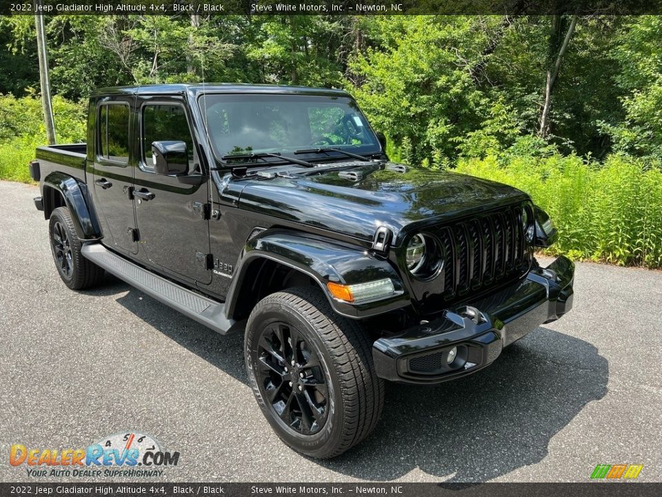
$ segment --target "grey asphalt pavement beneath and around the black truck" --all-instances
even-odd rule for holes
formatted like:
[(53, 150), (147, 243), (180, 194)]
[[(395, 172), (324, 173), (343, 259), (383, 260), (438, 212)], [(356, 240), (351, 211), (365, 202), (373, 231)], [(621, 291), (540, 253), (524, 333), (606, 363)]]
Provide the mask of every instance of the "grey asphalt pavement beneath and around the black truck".
[(151, 480), (582, 482), (598, 464), (642, 464), (639, 480), (662, 481), (662, 272), (577, 264), (571, 313), (462, 380), (390, 384), (372, 436), (318, 461), (263, 419), (241, 333), (111, 276), (67, 289), (37, 195), (0, 182), (0, 481), (52, 481), (10, 466), (13, 444), (76, 449), (124, 432), (179, 451)]

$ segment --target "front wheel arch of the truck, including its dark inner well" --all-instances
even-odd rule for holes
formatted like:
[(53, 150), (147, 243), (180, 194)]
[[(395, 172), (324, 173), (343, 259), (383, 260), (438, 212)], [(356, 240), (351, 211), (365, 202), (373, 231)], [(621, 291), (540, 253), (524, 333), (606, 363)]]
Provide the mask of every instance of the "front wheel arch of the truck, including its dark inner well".
[[(390, 277), (397, 295), (377, 302), (350, 304), (334, 298), (327, 283), (355, 284)], [(387, 260), (370, 257), (360, 247), (292, 231), (265, 231), (249, 240), (239, 256), (226, 300), (230, 319), (248, 318), (252, 308), (271, 293), (292, 286), (318, 286), (334, 312), (347, 318), (368, 318), (409, 304), (397, 271)]]

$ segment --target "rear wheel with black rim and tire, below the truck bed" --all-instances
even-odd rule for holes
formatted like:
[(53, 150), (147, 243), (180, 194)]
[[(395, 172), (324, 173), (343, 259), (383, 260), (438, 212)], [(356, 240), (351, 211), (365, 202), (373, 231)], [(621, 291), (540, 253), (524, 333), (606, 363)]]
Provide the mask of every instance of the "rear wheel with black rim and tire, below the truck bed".
[(82, 290), (99, 284), (103, 269), (81, 254), (83, 244), (68, 208), (58, 207), (51, 213), (48, 235), (55, 267), (66, 286), (72, 290)]

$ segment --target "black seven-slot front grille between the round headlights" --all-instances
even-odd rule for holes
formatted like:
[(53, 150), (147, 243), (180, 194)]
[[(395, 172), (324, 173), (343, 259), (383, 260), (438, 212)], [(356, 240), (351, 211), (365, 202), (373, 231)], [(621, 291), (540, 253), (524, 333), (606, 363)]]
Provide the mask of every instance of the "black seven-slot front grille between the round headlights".
[(443, 300), (496, 286), (528, 269), (530, 250), (521, 208), (521, 204), (508, 206), (432, 230), (445, 261)]

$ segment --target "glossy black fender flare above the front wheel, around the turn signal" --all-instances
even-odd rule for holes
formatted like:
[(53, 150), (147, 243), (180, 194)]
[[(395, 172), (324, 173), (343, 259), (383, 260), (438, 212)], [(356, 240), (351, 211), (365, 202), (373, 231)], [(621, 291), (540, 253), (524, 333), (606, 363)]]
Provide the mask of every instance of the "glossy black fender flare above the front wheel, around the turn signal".
[[(246, 276), (252, 264), (264, 260), (278, 262), (308, 275), (319, 284), (332, 309), (347, 318), (361, 319), (379, 315), (410, 304), (408, 291), (401, 277), (388, 260), (373, 257), (361, 247), (346, 246), (313, 235), (294, 231), (264, 231), (249, 240), (233, 271), (232, 284), (225, 301), (225, 313), (230, 319), (237, 314), (242, 290), (252, 281)], [(356, 284), (390, 278), (395, 293), (383, 300), (358, 304), (334, 298), (327, 283)]]

